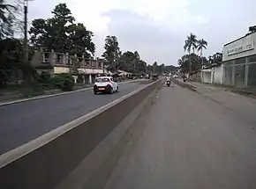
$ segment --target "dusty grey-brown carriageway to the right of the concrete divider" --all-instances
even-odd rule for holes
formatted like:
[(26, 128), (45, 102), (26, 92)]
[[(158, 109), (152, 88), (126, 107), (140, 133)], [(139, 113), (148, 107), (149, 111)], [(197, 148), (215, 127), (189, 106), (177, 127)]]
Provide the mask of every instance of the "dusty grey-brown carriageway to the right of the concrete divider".
[(256, 188), (256, 101), (211, 94), (162, 88), (104, 188)]

